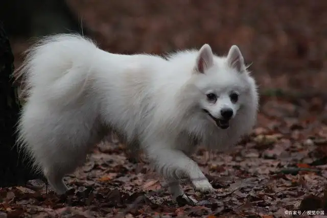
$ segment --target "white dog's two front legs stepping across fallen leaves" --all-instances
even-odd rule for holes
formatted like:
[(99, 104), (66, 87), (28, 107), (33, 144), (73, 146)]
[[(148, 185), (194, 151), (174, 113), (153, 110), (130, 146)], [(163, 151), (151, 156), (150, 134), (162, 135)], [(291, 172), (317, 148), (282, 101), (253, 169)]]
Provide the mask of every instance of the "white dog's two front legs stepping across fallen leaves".
[(149, 158), (155, 169), (170, 182), (170, 190), (173, 198), (184, 195), (180, 187), (181, 179), (189, 179), (195, 190), (207, 193), (215, 189), (203, 175), (198, 164), (186, 156), (182, 151), (175, 149), (151, 149), (148, 150)]

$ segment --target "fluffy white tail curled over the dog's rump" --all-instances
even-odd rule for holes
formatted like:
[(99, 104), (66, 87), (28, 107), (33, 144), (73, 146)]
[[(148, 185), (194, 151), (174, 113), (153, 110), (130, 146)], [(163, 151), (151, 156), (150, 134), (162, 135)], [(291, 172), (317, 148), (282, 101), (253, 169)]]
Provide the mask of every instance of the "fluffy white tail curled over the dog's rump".
[(77, 98), (86, 84), (97, 49), (91, 40), (74, 34), (47, 36), (37, 41), (15, 72), (25, 86), (22, 94), (37, 93), (56, 102)]

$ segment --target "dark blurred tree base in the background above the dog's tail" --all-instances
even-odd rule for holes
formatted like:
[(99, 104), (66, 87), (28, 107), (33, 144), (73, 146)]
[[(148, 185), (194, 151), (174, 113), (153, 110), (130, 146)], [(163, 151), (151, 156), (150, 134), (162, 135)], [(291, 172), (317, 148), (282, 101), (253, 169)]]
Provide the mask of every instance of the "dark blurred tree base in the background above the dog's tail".
[(65, 0), (1, 0), (0, 20), (9, 36), (39, 37), (70, 32), (87, 35)]

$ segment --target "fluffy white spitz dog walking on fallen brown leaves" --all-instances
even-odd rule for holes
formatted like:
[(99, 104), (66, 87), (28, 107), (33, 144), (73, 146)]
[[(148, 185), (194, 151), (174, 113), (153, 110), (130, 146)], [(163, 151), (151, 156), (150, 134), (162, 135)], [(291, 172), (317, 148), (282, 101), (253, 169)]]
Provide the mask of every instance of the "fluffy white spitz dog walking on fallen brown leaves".
[(28, 94), (19, 148), (58, 194), (67, 190), (64, 175), (110, 130), (147, 154), (174, 199), (185, 196), (183, 178), (214, 191), (190, 155), (198, 144), (224, 151), (256, 122), (255, 81), (236, 45), (225, 57), (208, 44), (168, 57), (121, 55), (62, 34), (40, 40), (18, 71)]

